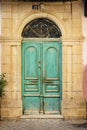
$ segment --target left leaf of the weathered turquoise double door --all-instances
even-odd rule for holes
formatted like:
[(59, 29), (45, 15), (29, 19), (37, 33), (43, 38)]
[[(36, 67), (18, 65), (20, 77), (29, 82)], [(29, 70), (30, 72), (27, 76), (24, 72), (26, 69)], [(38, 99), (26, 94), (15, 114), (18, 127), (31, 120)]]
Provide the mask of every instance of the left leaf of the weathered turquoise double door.
[(40, 46), (30, 42), (22, 45), (24, 114), (37, 114), (40, 111)]

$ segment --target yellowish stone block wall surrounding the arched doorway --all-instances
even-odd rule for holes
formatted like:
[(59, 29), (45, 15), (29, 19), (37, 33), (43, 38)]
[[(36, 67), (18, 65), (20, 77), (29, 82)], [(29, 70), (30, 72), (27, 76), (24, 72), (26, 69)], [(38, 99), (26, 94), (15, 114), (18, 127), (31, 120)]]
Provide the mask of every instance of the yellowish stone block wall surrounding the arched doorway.
[[(35, 18), (48, 18), (62, 32), (62, 115), (65, 119), (83, 119), (86, 106), (82, 92), (82, 1), (43, 3), (38, 10), (32, 2), (1, 2), (2, 72), (8, 86), (2, 101), (2, 118), (22, 116), (21, 33)], [(39, 3), (36, 3), (39, 4)]]

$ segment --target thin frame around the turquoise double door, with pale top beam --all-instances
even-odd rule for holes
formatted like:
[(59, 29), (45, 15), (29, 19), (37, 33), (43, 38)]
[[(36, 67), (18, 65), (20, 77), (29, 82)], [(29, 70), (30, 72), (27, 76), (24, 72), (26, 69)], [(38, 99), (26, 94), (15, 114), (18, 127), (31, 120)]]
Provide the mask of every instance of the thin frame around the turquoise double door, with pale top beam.
[[(34, 41), (36, 41), (36, 42), (40, 42), (40, 43), (45, 43), (45, 42), (60, 42), (61, 44), (62, 44), (62, 40), (61, 40), (61, 38), (23, 38), (22, 39), (22, 42), (23, 41), (28, 41), (28, 42), (34, 42)], [(23, 45), (23, 44), (22, 44)], [(23, 65), (23, 63), (22, 63), (22, 57), (23, 57), (23, 53), (22, 53), (22, 45), (21, 45), (21, 79), (22, 79), (22, 81), (21, 81), (21, 83), (22, 83), (22, 114), (24, 114), (23, 113), (23, 110), (24, 110), (24, 105), (23, 105), (23, 72), (22, 72), (22, 65)], [(60, 95), (61, 95), (61, 98), (60, 98), (60, 101), (61, 101), (61, 103), (60, 103), (60, 113), (61, 113), (61, 110), (62, 110), (62, 45), (61, 45), (61, 63), (60, 63), (61, 65), (60, 65), (60, 67), (61, 67), (61, 69), (60, 69), (60, 84), (61, 84), (61, 87), (60, 87)]]

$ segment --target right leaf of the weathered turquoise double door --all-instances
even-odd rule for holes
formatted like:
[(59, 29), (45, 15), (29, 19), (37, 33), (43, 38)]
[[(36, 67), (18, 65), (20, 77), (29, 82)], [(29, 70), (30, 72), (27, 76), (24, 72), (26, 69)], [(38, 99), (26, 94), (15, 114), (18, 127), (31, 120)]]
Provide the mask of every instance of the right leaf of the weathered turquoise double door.
[(60, 44), (43, 44), (44, 113), (60, 112)]

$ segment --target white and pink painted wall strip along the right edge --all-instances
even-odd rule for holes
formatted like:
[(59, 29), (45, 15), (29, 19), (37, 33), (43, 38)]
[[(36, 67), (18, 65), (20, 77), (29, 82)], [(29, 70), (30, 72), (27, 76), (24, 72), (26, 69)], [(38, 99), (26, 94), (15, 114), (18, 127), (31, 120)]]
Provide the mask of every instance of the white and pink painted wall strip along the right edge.
[[(84, 8), (84, 7), (83, 7)], [(82, 9), (84, 11), (84, 9)], [(87, 17), (82, 17), (83, 42), (83, 97), (87, 101)]]

